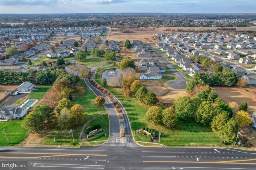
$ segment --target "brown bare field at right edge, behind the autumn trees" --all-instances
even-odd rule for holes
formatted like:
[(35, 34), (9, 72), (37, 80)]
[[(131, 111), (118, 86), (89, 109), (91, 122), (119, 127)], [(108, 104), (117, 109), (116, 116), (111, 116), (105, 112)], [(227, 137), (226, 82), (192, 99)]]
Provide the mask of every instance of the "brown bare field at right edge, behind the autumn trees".
[[(245, 87), (244, 89), (237, 87), (214, 87), (225, 103), (234, 101), (240, 105), (242, 102), (247, 102), (249, 113), (256, 110), (256, 94), (251, 92), (253, 88), (255, 89), (255, 86)], [(249, 92), (246, 92), (245, 90), (249, 90)]]

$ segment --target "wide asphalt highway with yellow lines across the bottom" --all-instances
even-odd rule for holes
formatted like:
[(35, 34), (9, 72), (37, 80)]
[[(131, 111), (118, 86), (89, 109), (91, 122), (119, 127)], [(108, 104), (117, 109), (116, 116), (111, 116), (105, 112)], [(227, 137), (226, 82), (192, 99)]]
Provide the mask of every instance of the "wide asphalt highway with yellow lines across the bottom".
[(147, 148), (138, 145), (80, 149), (9, 147), (0, 152), (1, 161), (28, 161), (29, 170), (254, 170), (256, 152), (222, 148)]

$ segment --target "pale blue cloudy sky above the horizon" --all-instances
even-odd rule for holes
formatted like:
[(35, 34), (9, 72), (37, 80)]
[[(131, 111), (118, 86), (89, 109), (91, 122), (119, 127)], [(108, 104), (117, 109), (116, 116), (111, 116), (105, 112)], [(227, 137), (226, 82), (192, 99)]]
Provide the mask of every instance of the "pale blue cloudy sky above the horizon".
[(256, 0), (0, 0), (0, 14), (255, 13)]

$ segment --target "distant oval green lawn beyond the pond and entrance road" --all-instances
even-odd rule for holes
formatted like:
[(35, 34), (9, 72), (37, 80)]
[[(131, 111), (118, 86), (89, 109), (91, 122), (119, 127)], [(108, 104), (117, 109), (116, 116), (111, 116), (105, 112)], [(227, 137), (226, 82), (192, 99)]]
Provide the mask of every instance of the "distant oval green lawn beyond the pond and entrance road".
[(104, 57), (87, 56), (85, 61), (76, 61), (77, 64), (84, 64), (86, 66), (104, 66), (108, 65), (111, 61), (106, 60)]

